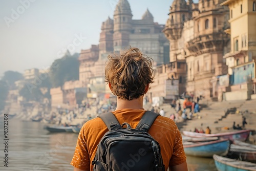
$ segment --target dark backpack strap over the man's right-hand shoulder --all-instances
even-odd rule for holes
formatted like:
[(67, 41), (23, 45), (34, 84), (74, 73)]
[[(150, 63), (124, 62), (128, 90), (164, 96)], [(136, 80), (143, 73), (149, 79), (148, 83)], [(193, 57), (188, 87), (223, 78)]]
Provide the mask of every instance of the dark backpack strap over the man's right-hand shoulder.
[(148, 132), (148, 130), (150, 130), (151, 125), (158, 116), (159, 114), (155, 112), (146, 111), (142, 116), (140, 122), (136, 126), (136, 129), (142, 132)]

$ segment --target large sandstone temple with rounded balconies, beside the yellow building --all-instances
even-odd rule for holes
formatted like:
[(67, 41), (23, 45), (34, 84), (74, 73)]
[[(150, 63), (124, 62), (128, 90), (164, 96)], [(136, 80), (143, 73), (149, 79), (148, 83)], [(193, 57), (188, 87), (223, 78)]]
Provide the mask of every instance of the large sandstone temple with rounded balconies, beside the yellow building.
[[(159, 67), (162, 77), (152, 86), (166, 99), (178, 98), (183, 92), (217, 99), (215, 78), (227, 73), (223, 54), (229, 51), (230, 40), (224, 32), (229, 28), (229, 10), (222, 2), (174, 0), (170, 6), (163, 29), (170, 41), (169, 63)], [(151, 90), (153, 96), (155, 89)]]

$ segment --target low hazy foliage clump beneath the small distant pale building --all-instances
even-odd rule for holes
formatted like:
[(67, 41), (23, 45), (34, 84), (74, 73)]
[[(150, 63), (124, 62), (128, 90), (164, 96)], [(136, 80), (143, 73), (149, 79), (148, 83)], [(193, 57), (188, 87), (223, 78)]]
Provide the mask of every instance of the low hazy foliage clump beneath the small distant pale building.
[(19, 95), (23, 96), (27, 101), (40, 101), (42, 100), (42, 93), (39, 87), (31, 83), (27, 83), (20, 91)]

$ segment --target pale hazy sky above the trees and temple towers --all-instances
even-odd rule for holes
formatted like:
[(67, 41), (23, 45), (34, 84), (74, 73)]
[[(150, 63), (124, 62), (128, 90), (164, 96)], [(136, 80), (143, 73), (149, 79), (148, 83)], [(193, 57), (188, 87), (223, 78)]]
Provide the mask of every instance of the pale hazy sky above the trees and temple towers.
[[(0, 77), (7, 70), (48, 68), (65, 49), (98, 44), (104, 20), (119, 0), (0, 0)], [(165, 24), (173, 0), (128, 0), (133, 19), (148, 8)], [(77, 38), (78, 37), (78, 38)]]

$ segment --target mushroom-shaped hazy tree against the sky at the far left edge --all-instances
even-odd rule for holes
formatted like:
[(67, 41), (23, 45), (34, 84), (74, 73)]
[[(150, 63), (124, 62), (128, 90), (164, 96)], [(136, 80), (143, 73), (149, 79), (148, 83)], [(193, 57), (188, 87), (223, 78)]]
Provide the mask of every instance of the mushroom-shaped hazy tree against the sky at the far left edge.
[(23, 75), (16, 71), (6, 71), (2, 80), (6, 81), (10, 86), (10, 89), (15, 89), (15, 81), (22, 80)]

